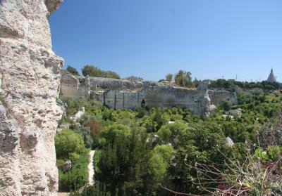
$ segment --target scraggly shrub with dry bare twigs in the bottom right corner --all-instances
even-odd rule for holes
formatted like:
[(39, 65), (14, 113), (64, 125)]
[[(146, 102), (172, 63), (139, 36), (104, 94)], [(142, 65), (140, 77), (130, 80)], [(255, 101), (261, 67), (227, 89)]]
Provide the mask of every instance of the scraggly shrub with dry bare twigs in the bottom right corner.
[[(235, 157), (235, 156), (234, 156)], [(226, 169), (219, 169), (219, 164), (197, 166), (197, 174), (209, 179), (207, 183), (217, 183), (216, 188), (204, 188), (200, 180), (200, 190), (207, 195), (281, 195), (281, 159), (277, 162), (269, 160), (266, 151), (258, 148), (255, 155), (250, 150), (245, 153), (245, 159), (230, 159), (226, 157), (223, 163)], [(217, 178), (214, 178), (216, 172)], [(207, 191), (208, 190), (208, 191)]]

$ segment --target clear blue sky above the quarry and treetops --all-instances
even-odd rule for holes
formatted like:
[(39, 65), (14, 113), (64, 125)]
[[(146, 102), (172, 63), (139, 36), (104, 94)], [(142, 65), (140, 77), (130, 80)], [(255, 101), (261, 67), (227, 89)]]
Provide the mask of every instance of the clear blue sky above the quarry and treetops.
[(65, 0), (50, 24), (54, 51), (78, 70), (256, 81), (273, 67), (282, 81), (281, 0)]

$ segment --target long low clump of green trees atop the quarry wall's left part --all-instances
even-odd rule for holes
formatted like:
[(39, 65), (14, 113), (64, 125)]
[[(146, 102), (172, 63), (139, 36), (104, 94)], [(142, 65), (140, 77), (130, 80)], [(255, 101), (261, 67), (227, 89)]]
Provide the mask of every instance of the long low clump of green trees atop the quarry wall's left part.
[(82, 74), (84, 76), (89, 75), (90, 77), (108, 77), (108, 78), (121, 79), (121, 77), (115, 72), (103, 71), (93, 65), (85, 65), (82, 68)]

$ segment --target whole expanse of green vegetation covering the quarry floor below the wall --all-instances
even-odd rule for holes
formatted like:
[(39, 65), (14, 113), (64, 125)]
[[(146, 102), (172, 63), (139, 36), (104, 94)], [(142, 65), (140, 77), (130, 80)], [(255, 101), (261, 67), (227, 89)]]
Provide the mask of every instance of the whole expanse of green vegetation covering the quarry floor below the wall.
[[(238, 99), (200, 119), (177, 107), (111, 110), (61, 98), (60, 190), (87, 196), (282, 194), (282, 93), (239, 93)], [(85, 114), (74, 120), (82, 107)], [(87, 186), (90, 150), (95, 183)]]

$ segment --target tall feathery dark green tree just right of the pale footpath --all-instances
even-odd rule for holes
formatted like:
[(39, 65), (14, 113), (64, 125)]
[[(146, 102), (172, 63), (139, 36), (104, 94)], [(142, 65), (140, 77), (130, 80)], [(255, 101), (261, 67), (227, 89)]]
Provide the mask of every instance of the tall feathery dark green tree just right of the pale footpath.
[[(107, 132), (106, 137), (104, 132)], [(106, 142), (99, 155), (96, 177), (106, 187), (106, 192), (148, 195), (157, 188), (166, 166), (161, 155), (152, 154), (144, 130), (133, 128), (129, 132), (128, 127), (118, 125), (106, 129), (101, 136)]]

